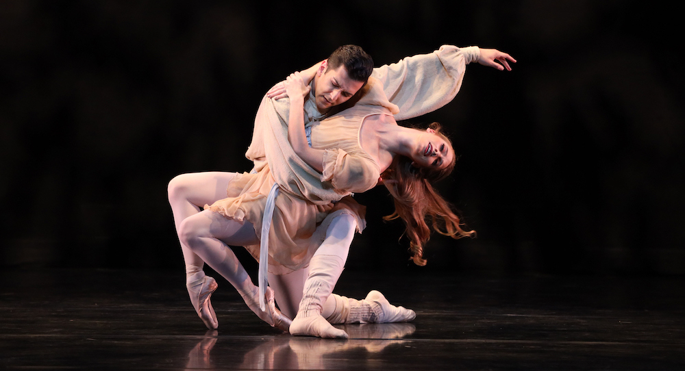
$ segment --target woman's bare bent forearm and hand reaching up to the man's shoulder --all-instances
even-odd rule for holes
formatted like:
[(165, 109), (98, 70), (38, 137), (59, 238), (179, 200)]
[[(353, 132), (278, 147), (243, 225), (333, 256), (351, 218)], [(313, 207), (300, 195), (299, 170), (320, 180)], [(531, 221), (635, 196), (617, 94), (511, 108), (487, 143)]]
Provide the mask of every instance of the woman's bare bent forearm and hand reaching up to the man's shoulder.
[(307, 142), (304, 130), (304, 97), (311, 89), (310, 81), (304, 81), (301, 73), (290, 74), (286, 79), (286, 93), (290, 98), (290, 113), (288, 114), (288, 140), (292, 149), (314, 170), (323, 173), (322, 149), (313, 149)]

